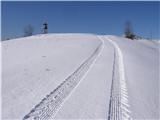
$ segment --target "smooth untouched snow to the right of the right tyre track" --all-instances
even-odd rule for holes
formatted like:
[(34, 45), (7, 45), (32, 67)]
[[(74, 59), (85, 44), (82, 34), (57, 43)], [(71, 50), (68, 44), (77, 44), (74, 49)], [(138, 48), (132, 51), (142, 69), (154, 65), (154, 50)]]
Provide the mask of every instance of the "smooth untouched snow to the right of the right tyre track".
[(123, 53), (131, 117), (158, 120), (159, 44), (106, 37), (116, 42)]

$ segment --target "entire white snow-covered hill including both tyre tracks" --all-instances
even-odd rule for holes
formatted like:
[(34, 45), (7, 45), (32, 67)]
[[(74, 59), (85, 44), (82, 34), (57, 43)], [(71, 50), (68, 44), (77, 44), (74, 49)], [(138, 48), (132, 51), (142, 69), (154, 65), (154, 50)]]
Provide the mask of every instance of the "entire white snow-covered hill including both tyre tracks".
[(3, 41), (2, 119), (159, 119), (159, 43), (46, 34)]

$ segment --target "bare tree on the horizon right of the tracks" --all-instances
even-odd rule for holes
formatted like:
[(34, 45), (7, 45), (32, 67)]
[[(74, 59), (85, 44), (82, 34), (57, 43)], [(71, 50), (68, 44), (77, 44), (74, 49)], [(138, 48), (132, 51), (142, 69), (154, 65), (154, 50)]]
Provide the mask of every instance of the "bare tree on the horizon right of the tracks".
[(132, 24), (130, 21), (127, 21), (126, 24), (125, 24), (125, 37), (126, 38), (129, 38), (129, 39), (134, 39), (135, 38), (135, 35), (133, 33), (133, 28), (132, 28)]

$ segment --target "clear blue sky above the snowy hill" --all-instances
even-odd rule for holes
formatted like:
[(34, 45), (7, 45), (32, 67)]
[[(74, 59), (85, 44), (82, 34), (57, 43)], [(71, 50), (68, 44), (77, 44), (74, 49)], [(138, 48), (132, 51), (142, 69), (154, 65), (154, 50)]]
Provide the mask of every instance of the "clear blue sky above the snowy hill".
[(160, 2), (2, 2), (2, 38), (23, 36), (31, 24), (34, 34), (48, 22), (50, 33), (97, 33), (122, 35), (131, 21), (134, 33), (160, 38)]

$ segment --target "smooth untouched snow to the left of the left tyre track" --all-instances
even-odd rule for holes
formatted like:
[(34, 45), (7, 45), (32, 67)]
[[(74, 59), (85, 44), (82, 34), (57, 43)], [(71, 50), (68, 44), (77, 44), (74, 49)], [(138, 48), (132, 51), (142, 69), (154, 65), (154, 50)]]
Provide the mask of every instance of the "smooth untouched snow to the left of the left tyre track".
[(2, 117), (22, 119), (100, 43), (90, 34), (36, 35), (2, 42)]

